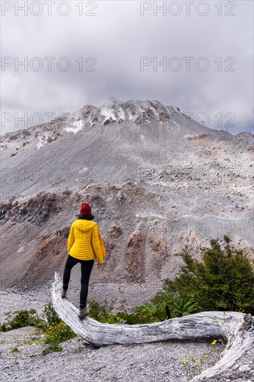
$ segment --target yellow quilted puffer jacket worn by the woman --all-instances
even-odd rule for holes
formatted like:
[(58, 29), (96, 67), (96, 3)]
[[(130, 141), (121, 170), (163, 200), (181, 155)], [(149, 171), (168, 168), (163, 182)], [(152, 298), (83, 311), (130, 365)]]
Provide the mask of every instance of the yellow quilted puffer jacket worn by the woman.
[(71, 224), (68, 238), (68, 253), (80, 260), (98, 259), (103, 263), (105, 246), (99, 233), (98, 223), (77, 219)]

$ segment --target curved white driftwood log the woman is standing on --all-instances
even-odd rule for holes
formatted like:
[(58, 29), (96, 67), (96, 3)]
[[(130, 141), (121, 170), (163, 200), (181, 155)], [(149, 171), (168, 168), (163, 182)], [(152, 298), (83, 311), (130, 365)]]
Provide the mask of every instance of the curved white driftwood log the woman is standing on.
[[(253, 348), (254, 317), (238, 312), (226, 312), (227, 326), (215, 322), (223, 320), (223, 312), (202, 312), (185, 317), (167, 319), (153, 324), (103, 324), (85, 316), (78, 318), (78, 308), (60, 296), (62, 280), (55, 273), (51, 294), (53, 307), (67, 325), (82, 338), (94, 344), (138, 344), (163, 340), (214, 340), (222, 338), (226, 343), (219, 362), (194, 377), (192, 381), (201, 381), (203, 377), (217, 376), (227, 369), (238, 367), (245, 351)], [(227, 330), (226, 330), (227, 329)], [(237, 362), (239, 361), (239, 362)]]

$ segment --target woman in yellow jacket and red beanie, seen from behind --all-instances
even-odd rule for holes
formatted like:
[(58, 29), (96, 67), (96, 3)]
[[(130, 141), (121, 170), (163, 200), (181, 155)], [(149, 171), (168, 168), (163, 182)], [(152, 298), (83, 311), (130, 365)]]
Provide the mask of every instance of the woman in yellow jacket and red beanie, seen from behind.
[(99, 233), (98, 223), (92, 222), (94, 216), (91, 206), (88, 203), (81, 204), (80, 214), (77, 216), (78, 218), (71, 224), (69, 231), (69, 256), (65, 264), (61, 296), (62, 298), (66, 297), (71, 269), (77, 263), (81, 263), (81, 294), (78, 317), (83, 318), (89, 313), (87, 308), (88, 283), (94, 259), (97, 258), (98, 268), (100, 268), (103, 264), (103, 257), (105, 257), (105, 247)]

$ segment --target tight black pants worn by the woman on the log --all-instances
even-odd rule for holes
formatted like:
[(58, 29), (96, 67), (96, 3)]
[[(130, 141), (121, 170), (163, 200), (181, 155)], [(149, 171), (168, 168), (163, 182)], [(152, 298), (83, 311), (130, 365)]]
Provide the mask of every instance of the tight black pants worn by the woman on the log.
[(87, 305), (87, 294), (88, 294), (88, 284), (90, 279), (90, 274), (92, 272), (92, 267), (94, 265), (94, 260), (79, 260), (72, 256), (68, 256), (65, 263), (65, 270), (63, 274), (62, 287), (64, 290), (68, 289), (69, 278), (71, 276), (71, 269), (74, 265), (81, 263), (81, 297), (80, 297), (80, 308), (85, 308)]

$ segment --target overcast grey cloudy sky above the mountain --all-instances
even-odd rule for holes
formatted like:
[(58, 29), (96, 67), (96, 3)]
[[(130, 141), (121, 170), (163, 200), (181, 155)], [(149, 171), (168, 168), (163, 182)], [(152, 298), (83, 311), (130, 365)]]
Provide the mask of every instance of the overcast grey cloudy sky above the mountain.
[(1, 1), (1, 56), (1, 134), (110, 96), (253, 131), (253, 1)]

